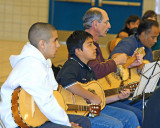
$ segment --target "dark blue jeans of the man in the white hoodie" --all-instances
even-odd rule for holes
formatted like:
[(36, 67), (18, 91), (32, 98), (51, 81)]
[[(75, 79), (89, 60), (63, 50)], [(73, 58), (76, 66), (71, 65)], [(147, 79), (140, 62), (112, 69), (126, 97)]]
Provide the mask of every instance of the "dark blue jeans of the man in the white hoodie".
[[(78, 123), (79, 126), (83, 128), (91, 128), (91, 122), (87, 117), (84, 116), (78, 116), (78, 115), (69, 115), (69, 120), (70, 122)], [(50, 121), (44, 123), (42, 126), (39, 128), (70, 128), (68, 126), (60, 125), (60, 124), (55, 124)]]

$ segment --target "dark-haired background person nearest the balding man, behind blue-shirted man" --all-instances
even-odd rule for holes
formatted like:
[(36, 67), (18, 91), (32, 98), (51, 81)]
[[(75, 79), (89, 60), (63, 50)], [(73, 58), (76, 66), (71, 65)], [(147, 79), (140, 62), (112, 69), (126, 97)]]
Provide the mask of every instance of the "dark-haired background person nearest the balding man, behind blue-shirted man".
[(124, 37), (128, 37), (136, 33), (139, 23), (140, 23), (139, 16), (130, 15), (125, 21), (124, 28), (118, 33), (117, 38), (123, 39)]

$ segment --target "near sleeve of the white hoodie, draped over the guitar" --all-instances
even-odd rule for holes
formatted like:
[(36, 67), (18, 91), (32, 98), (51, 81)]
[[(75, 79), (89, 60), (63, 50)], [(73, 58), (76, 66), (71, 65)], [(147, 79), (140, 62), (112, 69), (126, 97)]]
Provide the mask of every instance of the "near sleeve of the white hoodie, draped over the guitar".
[(71, 126), (66, 112), (53, 96), (53, 89), (54, 86), (57, 86), (57, 82), (52, 79), (54, 77), (52, 69), (44, 67), (39, 62), (33, 62), (33, 60), (30, 62), (32, 64), (28, 67), (26, 66), (23, 69), (23, 74), (20, 74), (20, 86), (33, 96), (41, 112), (51, 122)]

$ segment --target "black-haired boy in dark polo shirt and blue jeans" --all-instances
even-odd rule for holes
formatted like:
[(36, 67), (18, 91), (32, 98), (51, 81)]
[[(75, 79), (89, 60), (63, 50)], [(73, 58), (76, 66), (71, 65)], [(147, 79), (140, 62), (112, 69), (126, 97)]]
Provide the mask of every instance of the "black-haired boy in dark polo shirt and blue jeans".
[[(87, 65), (89, 60), (96, 59), (96, 46), (90, 33), (75, 31), (68, 37), (66, 44), (70, 58), (56, 77), (57, 82), (66, 90), (88, 99), (92, 104), (100, 104), (104, 102), (103, 100), (106, 100), (106, 103), (111, 103), (129, 96), (130, 93), (126, 90), (120, 94), (101, 99), (98, 94), (96, 95), (81, 86), (80, 83), (85, 84), (96, 80), (94, 71)], [(95, 93), (97, 93), (96, 89)], [(92, 128), (137, 128), (139, 126), (138, 119), (133, 112), (108, 105), (103, 108), (99, 116), (90, 118), (90, 120)]]

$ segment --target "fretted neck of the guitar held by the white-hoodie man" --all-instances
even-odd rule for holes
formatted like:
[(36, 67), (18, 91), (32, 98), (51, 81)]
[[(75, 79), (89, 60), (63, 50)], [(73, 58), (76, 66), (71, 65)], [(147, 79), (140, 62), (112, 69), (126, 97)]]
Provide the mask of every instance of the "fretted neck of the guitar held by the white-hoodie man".
[(89, 106), (67, 104), (67, 111), (90, 111)]

